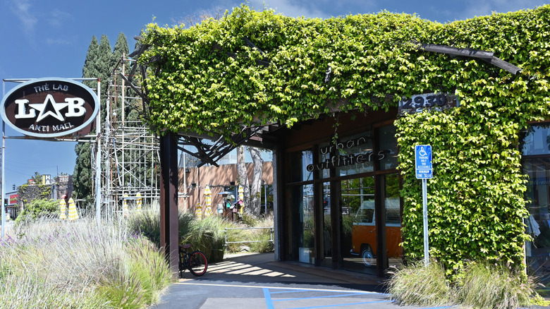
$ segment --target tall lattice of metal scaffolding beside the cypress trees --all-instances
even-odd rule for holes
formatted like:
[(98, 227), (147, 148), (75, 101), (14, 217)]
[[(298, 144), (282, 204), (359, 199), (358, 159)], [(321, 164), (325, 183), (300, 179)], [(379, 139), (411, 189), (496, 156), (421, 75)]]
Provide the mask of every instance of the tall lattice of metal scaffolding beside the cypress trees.
[(101, 191), (107, 217), (126, 211), (125, 204), (132, 211), (139, 198), (145, 205), (158, 202), (160, 196), (159, 140), (140, 121), (142, 98), (126, 82), (140, 78), (128, 76), (133, 61), (122, 56), (106, 90), (100, 145)]

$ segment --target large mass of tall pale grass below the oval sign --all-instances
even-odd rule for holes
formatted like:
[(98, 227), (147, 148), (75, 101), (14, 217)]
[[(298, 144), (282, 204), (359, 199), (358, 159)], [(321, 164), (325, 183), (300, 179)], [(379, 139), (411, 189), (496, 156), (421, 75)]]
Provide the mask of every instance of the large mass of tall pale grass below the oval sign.
[(42, 218), (14, 234), (0, 241), (8, 308), (149, 308), (173, 278), (164, 253), (124, 224)]

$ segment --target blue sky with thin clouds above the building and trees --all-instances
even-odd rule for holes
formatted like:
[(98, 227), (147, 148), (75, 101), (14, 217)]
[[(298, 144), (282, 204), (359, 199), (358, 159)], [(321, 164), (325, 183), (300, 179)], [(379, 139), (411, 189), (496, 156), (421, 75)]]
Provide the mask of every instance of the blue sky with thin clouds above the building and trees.
[[(186, 16), (240, 5), (239, 1), (61, 1), (0, 0), (0, 78), (80, 78), (92, 35), (109, 37), (111, 47), (120, 32), (133, 37), (153, 20), (175, 25)], [(357, 13), (416, 13), (420, 18), (446, 23), (491, 12), (534, 8), (547, 1), (524, 0), (252, 0), (257, 9), (274, 8), (286, 16), (329, 18)], [(5, 92), (16, 84), (4, 83)], [(6, 135), (16, 136), (6, 128)], [(39, 140), (6, 140), (6, 190), (40, 174), (73, 174), (75, 143)]]

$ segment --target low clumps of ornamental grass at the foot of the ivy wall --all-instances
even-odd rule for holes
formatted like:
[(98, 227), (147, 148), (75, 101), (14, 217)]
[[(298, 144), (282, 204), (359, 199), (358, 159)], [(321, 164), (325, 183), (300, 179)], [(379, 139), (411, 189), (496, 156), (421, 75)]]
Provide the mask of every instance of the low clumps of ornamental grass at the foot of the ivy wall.
[(414, 262), (396, 270), (386, 284), (391, 299), (401, 305), (515, 309), (530, 305), (531, 299), (540, 302), (525, 274), (498, 263), (472, 262), (448, 281), (441, 263), (432, 261), (424, 267), (423, 262)]

